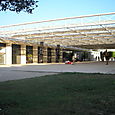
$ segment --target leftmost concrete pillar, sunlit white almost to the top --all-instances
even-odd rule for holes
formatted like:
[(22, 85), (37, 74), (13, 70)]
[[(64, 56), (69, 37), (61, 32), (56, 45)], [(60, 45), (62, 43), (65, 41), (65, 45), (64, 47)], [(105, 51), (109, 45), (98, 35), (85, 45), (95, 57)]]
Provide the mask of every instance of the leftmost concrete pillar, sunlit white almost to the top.
[(12, 64), (12, 44), (6, 44), (6, 63), (7, 65)]

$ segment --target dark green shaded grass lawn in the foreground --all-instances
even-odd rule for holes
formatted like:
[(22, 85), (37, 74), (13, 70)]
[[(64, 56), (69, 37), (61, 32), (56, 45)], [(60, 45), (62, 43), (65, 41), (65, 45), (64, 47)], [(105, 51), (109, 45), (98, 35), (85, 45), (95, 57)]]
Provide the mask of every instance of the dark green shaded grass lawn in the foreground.
[(62, 73), (1, 82), (0, 115), (115, 115), (115, 74)]

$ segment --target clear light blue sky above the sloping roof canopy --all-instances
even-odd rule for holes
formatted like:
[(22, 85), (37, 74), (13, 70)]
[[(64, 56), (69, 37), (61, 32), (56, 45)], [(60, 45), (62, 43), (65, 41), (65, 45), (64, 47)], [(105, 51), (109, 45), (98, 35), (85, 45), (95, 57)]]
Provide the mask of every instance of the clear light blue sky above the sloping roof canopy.
[(39, 0), (33, 14), (1, 11), (0, 26), (115, 12), (115, 0)]

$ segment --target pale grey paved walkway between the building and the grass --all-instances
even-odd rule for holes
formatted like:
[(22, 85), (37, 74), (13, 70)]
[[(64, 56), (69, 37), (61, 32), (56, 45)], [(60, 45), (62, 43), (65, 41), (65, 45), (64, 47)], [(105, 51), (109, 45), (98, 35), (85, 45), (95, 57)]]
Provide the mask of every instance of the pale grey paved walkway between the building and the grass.
[(0, 65), (0, 81), (16, 80), (57, 74), (60, 72), (86, 72), (115, 74), (115, 62), (77, 62), (70, 64), (32, 64), (32, 65)]

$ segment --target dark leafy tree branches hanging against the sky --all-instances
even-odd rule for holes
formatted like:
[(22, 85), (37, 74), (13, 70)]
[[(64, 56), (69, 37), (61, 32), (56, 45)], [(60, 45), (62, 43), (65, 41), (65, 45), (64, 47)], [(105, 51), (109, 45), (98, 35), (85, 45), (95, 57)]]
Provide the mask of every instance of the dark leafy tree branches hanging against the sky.
[(0, 0), (0, 11), (15, 11), (17, 13), (24, 11), (32, 13), (38, 7), (37, 0)]

